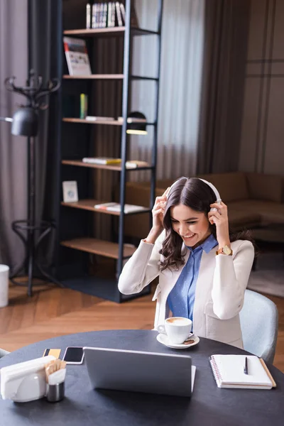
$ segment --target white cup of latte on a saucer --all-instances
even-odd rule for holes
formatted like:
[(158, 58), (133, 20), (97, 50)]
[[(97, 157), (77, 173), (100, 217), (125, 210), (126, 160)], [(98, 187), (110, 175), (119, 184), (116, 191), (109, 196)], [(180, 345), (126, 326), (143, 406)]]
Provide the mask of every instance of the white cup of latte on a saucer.
[(182, 344), (190, 335), (192, 320), (185, 317), (170, 317), (165, 320), (165, 325), (158, 325), (158, 332), (167, 334), (170, 342)]

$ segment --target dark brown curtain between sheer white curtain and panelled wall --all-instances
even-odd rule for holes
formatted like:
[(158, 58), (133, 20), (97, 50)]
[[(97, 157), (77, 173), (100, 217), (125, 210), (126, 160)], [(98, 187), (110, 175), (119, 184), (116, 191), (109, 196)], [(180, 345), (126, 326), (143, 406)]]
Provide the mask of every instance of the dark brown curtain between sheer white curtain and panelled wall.
[(249, 0), (207, 0), (197, 173), (238, 170)]

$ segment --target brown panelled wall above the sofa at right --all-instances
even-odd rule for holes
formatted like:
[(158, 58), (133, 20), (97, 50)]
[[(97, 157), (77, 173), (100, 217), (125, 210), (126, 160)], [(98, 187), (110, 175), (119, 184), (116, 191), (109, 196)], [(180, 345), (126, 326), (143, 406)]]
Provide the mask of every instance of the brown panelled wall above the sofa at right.
[(239, 170), (283, 174), (283, 21), (283, 0), (251, 0)]

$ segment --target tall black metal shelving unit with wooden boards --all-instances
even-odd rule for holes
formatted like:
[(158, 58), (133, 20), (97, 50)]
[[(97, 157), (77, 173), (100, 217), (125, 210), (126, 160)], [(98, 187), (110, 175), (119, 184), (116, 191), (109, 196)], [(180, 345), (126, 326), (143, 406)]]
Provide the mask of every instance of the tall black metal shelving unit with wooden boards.
[[(125, 204), (125, 186), (126, 186), (126, 175), (128, 172), (135, 172), (137, 170), (150, 170), (151, 172), (151, 199), (149, 200), (149, 207), (141, 207), (136, 212), (128, 214), (149, 214), (151, 217), (151, 207), (153, 206), (155, 199), (155, 168), (157, 158), (157, 127), (158, 127), (158, 95), (159, 95), (159, 80), (160, 80), (160, 31), (161, 31), (161, 20), (163, 11), (163, 0), (158, 2), (158, 31), (149, 31), (143, 28), (133, 28), (130, 26), (131, 23), (131, 3), (133, 0), (126, 0), (126, 24), (124, 27), (113, 27), (113, 28), (96, 28), (96, 29), (72, 29), (63, 32), (63, 35), (82, 37), (82, 38), (98, 38), (98, 37), (124, 37), (124, 63), (123, 73), (118, 74), (92, 74), (87, 76), (72, 76), (62, 75), (62, 80), (69, 80), (68, 84), (74, 84), (73, 82), (86, 82), (89, 90), (92, 87), (92, 81), (96, 80), (114, 80), (121, 81), (122, 87), (122, 99), (121, 99), (121, 111), (117, 116), (122, 116), (123, 121), (119, 120), (97, 120), (89, 121), (80, 119), (77, 117), (62, 117), (62, 126), (80, 126), (82, 125), (82, 141), (90, 139), (91, 126), (85, 124), (92, 124), (93, 126), (114, 126), (117, 129), (121, 128), (121, 141), (120, 141), (120, 158), (121, 165), (99, 165), (94, 163), (84, 163), (82, 161), (83, 156), (80, 153), (83, 152), (82, 146), (78, 148), (75, 143), (72, 143), (70, 139), (70, 146), (65, 143), (65, 150), (62, 149), (62, 157), (60, 163), (62, 167), (62, 180), (77, 180), (79, 187), (79, 197), (82, 200), (78, 202), (60, 202), (62, 214), (61, 222), (64, 225), (65, 231), (60, 234), (58, 243), (60, 244), (60, 269), (61, 280), (65, 285), (71, 288), (80, 288), (80, 285), (92, 287), (92, 294), (98, 297), (103, 297), (107, 300), (113, 300), (115, 302), (123, 302), (124, 300), (132, 299), (143, 294), (149, 293), (149, 286), (139, 293), (139, 295), (124, 296), (119, 293), (117, 288), (117, 277), (120, 275), (124, 261), (132, 256), (135, 249), (129, 244), (124, 242), (124, 204)], [(143, 35), (156, 35), (158, 37), (158, 74), (155, 77), (131, 75), (131, 40), (134, 36)], [(131, 111), (129, 105), (129, 87), (131, 81), (153, 81), (155, 82), (156, 89), (156, 101), (155, 101), (155, 119), (153, 122), (149, 122), (147, 126), (153, 126), (153, 148), (152, 148), (152, 160), (151, 164), (137, 167), (137, 168), (126, 168), (126, 156), (127, 147), (129, 143), (129, 135), (126, 134), (127, 129), (127, 116)], [(106, 83), (107, 84), (107, 83)], [(118, 84), (118, 83), (114, 83)], [(64, 87), (64, 86), (63, 86)], [(64, 90), (64, 89), (63, 89)], [(117, 127), (118, 126), (118, 127)], [(81, 127), (80, 127), (81, 129)], [(83, 130), (84, 129), (84, 130)], [(70, 130), (69, 130), (70, 131)], [(71, 132), (71, 131), (70, 131)], [(82, 142), (83, 144), (84, 142)], [(67, 148), (66, 148), (67, 147)], [(65, 152), (67, 151), (67, 152)], [(79, 155), (79, 158), (78, 158)], [(94, 207), (95, 204), (102, 204), (103, 202), (109, 202), (112, 200), (99, 201), (93, 197), (89, 197), (90, 191), (90, 180), (87, 178), (86, 173), (90, 173), (88, 169), (102, 169), (109, 170), (111, 172), (119, 173), (119, 185), (120, 185), (120, 204), (121, 213), (110, 212), (107, 210), (97, 209)], [(82, 178), (82, 174), (84, 178)], [(86, 182), (89, 184), (86, 185)], [(92, 185), (92, 182), (91, 182)], [(82, 190), (80, 190), (82, 188)], [(67, 212), (68, 214), (67, 214)], [(96, 239), (91, 236), (89, 232), (89, 214), (108, 214), (116, 218), (119, 218), (119, 229), (118, 229), (118, 241), (104, 241), (102, 239)], [(76, 253), (76, 254), (75, 254)], [(85, 255), (87, 253), (87, 257)], [(95, 254), (102, 256), (103, 258), (111, 258), (117, 261), (116, 274), (114, 277), (104, 277), (102, 275), (90, 275), (88, 269), (89, 258), (88, 255)], [(79, 258), (77, 257), (79, 256)], [(71, 257), (71, 259), (70, 259)], [(76, 267), (80, 265), (80, 271), (77, 271)], [(66, 267), (65, 267), (66, 266)], [(74, 268), (73, 268), (74, 267)], [(64, 271), (69, 268), (68, 273)], [(63, 273), (62, 273), (63, 271)], [(79, 273), (78, 273), (79, 272)], [(66, 276), (65, 276), (66, 275)], [(68, 275), (68, 276), (67, 276)]]

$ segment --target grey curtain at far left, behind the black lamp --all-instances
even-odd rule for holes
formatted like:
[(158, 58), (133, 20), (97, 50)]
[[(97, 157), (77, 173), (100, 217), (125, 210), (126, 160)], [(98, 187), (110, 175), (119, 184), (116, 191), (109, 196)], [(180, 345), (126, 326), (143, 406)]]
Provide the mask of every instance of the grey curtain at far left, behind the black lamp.
[[(14, 75), (16, 84), (26, 83), (28, 70), (27, 0), (0, 1), (0, 116), (11, 117), (24, 98), (8, 92), (6, 77)], [(11, 273), (21, 265), (23, 244), (11, 229), (14, 220), (27, 214), (26, 138), (11, 135), (11, 123), (0, 121), (0, 263)]]

